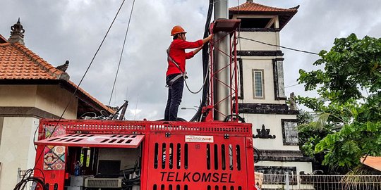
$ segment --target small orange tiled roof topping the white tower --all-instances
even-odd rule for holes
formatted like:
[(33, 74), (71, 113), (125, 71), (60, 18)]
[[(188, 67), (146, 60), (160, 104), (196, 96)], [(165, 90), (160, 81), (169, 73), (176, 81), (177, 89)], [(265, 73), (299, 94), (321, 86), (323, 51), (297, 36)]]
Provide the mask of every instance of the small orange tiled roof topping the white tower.
[(294, 8), (276, 8), (272, 6), (265, 6), (261, 4), (256, 4), (253, 2), (246, 2), (240, 6), (235, 6), (229, 8), (229, 11), (243, 11), (243, 12), (272, 12), (272, 13), (296, 13), (298, 11), (298, 6)]

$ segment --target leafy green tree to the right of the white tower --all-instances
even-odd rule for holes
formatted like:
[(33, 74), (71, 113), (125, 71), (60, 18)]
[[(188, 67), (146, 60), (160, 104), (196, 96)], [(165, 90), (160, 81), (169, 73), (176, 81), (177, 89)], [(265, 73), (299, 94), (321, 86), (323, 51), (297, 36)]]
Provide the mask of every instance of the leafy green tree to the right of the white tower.
[(363, 156), (381, 156), (381, 39), (351, 34), (319, 56), (313, 65), (324, 69), (299, 70), (298, 82), (320, 97), (297, 101), (320, 118), (300, 129), (324, 134), (310, 149), (324, 154), (323, 165), (345, 172)]

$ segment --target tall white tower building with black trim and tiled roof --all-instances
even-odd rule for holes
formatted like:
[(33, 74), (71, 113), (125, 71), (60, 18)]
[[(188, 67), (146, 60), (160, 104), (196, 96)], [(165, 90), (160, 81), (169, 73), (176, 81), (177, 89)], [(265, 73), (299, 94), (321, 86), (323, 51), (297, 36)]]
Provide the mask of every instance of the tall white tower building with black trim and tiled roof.
[(312, 159), (303, 157), (298, 146), (297, 110), (286, 104), (284, 53), (279, 48), (279, 32), (297, 10), (250, 0), (229, 8), (230, 18), (241, 19), (239, 113), (253, 124), (254, 146), (262, 153), (255, 171), (265, 174), (312, 172)]

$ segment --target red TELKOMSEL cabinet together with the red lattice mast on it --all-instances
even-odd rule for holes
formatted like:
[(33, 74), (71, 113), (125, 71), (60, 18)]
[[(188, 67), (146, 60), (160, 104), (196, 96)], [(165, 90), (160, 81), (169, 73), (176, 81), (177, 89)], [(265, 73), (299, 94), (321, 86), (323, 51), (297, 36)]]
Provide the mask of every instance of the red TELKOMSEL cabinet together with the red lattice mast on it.
[[(227, 32), (231, 36), (229, 52), (215, 47), (221, 39), (210, 43), (210, 52), (220, 51), (229, 56), (229, 64), (214, 71), (210, 53), (210, 94), (206, 122), (154, 122), (115, 120), (40, 120), (35, 177), (44, 177), (49, 190), (63, 190), (69, 175), (66, 170), (44, 170), (45, 147), (136, 148), (141, 150), (140, 189), (255, 189), (252, 125), (214, 121), (214, 106), (230, 101), (230, 114), (238, 115), (238, 70), (236, 28), (240, 20), (216, 20), (211, 32)], [(215, 75), (229, 69), (230, 81), (225, 84)], [(214, 102), (214, 81), (229, 88), (230, 94)], [(234, 99), (233, 99), (234, 97)], [(227, 115), (224, 115), (227, 116)], [(46, 137), (47, 128), (60, 128), (64, 135)], [(134, 136), (127, 143), (126, 139)], [(165, 159), (164, 159), (165, 158)], [(68, 160), (68, 159), (66, 159)], [(70, 159), (69, 159), (70, 160)], [(72, 160), (73, 162), (73, 160)], [(56, 186), (56, 188), (54, 188)], [(37, 189), (41, 187), (37, 186)]]

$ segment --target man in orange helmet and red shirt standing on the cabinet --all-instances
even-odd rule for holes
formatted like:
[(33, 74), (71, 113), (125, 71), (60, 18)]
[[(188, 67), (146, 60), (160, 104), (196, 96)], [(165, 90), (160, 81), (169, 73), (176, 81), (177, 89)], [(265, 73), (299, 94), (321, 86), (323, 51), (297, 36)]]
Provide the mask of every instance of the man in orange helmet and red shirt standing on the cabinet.
[[(196, 42), (186, 41), (186, 31), (181, 26), (174, 26), (171, 30), (171, 36), (174, 41), (169, 46), (168, 53), (168, 69), (167, 69), (167, 86), (168, 100), (165, 108), (164, 120), (176, 121), (177, 112), (183, 98), (184, 77), (186, 73), (186, 59), (193, 58), (202, 45), (212, 39), (212, 35)], [(195, 49), (197, 48), (197, 49)], [(185, 49), (195, 49), (188, 53)]]

